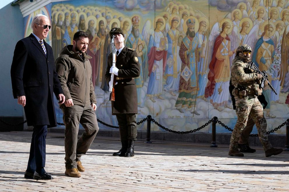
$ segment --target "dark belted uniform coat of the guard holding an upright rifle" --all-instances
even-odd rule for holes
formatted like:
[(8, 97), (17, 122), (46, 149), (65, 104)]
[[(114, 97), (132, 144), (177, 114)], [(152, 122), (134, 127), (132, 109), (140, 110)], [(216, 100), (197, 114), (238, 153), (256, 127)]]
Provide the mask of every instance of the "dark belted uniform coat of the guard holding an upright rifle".
[[(108, 55), (107, 66), (105, 79), (108, 83), (111, 76), (109, 71), (112, 66), (112, 53)], [(134, 78), (140, 76), (140, 63), (136, 51), (125, 46), (117, 56), (115, 66), (119, 71), (118, 76), (115, 76), (117, 85), (114, 86), (115, 101), (111, 102), (112, 114), (138, 113), (138, 95)]]

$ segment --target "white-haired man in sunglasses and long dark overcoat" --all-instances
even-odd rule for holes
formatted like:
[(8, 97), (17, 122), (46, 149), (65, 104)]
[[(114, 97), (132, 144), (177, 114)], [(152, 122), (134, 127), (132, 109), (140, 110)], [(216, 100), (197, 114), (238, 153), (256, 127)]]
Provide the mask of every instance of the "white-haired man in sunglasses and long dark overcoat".
[(34, 126), (24, 174), (29, 179), (52, 179), (44, 167), (47, 127), (57, 125), (53, 93), (59, 103), (65, 101), (54, 66), (52, 48), (44, 41), (50, 27), (48, 17), (36, 15), (31, 24), (33, 33), (17, 42), (11, 65), (13, 96), (24, 107), (27, 125)]

